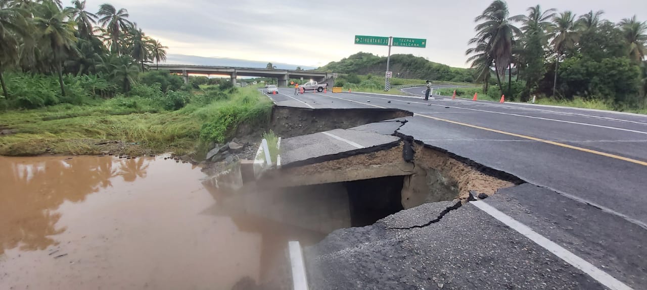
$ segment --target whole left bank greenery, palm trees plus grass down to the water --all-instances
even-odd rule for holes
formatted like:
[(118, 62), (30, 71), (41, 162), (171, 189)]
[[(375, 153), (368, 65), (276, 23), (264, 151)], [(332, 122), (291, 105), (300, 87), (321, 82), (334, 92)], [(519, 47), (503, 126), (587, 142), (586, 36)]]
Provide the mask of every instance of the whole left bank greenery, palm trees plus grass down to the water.
[(126, 9), (0, 0), (0, 154), (180, 153), (269, 121), (253, 88), (147, 72), (165, 59)]

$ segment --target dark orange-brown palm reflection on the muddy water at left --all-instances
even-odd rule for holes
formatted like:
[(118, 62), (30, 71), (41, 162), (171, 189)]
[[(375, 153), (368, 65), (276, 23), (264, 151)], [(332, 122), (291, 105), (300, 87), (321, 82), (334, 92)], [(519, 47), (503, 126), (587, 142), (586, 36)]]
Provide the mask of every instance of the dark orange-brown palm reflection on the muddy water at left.
[[(124, 180), (144, 176), (144, 160), (121, 166)], [(65, 200), (82, 202), (87, 194), (112, 185), (117, 173), (111, 157), (97, 158), (6, 158), (0, 156), (0, 254), (19, 246), (21, 250), (45, 249), (55, 242), (50, 236), (65, 231), (56, 228), (61, 217), (55, 210)]]

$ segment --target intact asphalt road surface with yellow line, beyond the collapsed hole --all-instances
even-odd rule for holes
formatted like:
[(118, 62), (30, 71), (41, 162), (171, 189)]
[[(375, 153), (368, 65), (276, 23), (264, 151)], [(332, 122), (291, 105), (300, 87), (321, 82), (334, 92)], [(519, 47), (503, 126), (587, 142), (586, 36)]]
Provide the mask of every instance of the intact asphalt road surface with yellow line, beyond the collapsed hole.
[(417, 97), (294, 96), (285, 88), (270, 97), (294, 107), (413, 112), (402, 134), (529, 183), (488, 198), (488, 208), (624, 286), (647, 289), (647, 116), (441, 96), (424, 101), (423, 88), (404, 90)]

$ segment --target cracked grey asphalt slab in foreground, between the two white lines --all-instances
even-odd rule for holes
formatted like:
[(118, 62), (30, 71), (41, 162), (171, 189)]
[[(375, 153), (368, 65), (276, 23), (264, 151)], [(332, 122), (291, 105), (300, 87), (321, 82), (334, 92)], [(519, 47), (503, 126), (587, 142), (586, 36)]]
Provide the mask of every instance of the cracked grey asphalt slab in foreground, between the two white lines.
[(427, 203), (305, 247), (311, 289), (605, 289), (470, 203), (393, 229), (452, 205)]

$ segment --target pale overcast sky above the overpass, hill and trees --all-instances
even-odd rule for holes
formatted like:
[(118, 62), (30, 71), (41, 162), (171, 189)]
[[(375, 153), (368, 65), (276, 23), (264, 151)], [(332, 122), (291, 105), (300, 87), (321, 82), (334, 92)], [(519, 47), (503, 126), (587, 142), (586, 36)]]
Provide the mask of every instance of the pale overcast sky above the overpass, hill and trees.
[[(65, 0), (64, 0), (65, 2)], [(105, 0), (87, 0), (98, 10)], [(169, 47), (168, 54), (225, 57), (319, 67), (359, 51), (386, 56), (387, 47), (354, 45), (357, 35), (428, 39), (426, 48), (394, 47), (453, 67), (467, 67), (465, 49), (474, 36), (474, 17), (491, 1), (328, 0), (111, 0), (131, 21)], [(604, 10), (613, 22), (637, 14), (647, 20), (641, 0), (514, 0), (510, 14), (543, 9), (571, 10), (578, 16)], [(173, 58), (171, 56), (171, 58)]]

